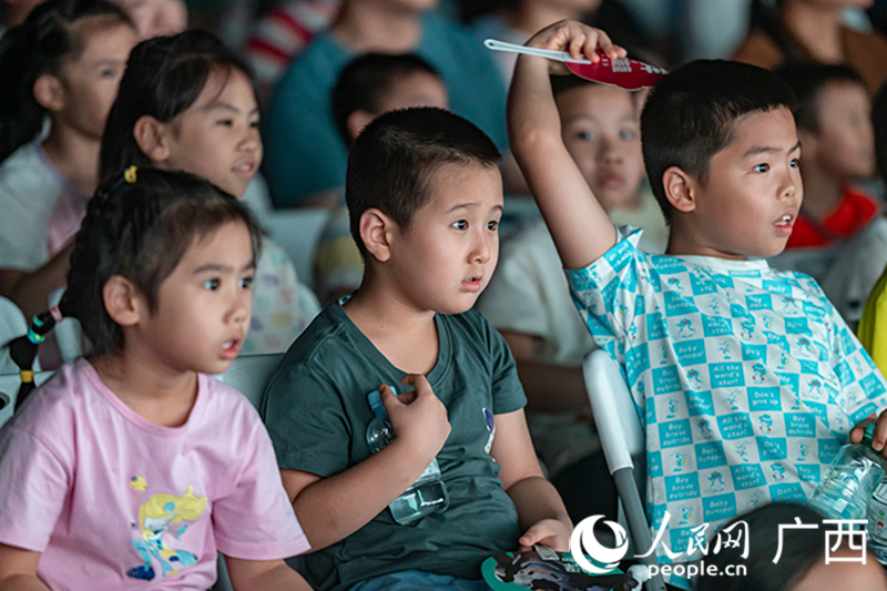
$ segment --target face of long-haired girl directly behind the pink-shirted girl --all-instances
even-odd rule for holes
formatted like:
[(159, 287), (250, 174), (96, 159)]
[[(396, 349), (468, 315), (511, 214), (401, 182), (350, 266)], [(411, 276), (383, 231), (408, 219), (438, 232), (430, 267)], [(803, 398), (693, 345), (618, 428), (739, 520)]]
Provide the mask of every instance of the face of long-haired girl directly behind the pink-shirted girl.
[(258, 104), (243, 72), (211, 74), (194, 104), (164, 128), (167, 156), (157, 166), (203, 176), (243, 196), (262, 164)]

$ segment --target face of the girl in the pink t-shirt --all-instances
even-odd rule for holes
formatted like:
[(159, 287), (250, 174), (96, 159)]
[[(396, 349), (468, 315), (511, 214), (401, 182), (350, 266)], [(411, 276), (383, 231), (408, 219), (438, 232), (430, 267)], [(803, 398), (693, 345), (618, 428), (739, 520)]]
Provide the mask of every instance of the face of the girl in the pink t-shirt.
[(175, 371), (226, 370), (249, 328), (254, 274), (253, 242), (243, 222), (196, 240), (161, 283), (154, 313), (136, 327), (145, 344), (140, 349)]

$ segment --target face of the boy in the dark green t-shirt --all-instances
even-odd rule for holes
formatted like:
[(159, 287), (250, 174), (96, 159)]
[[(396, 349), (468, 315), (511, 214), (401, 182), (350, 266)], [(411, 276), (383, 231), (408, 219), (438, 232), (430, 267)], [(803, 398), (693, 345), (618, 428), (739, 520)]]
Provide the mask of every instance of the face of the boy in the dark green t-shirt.
[(407, 228), (395, 228), (390, 276), (415, 309), (461, 314), (499, 261), (502, 176), (496, 166), (443, 164), (427, 184), (428, 203)]

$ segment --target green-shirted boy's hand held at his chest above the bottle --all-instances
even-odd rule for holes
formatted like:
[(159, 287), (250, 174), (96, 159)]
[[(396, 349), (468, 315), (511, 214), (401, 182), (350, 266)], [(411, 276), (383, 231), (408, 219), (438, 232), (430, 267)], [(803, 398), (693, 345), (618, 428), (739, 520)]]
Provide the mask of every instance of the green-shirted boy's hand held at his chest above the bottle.
[(388, 386), (379, 387), (381, 404), (397, 439), (409, 441), (421, 456), (437, 456), (451, 430), (447, 407), (431, 390), (425, 376), (409, 374), (400, 383), (415, 389), (395, 396)]

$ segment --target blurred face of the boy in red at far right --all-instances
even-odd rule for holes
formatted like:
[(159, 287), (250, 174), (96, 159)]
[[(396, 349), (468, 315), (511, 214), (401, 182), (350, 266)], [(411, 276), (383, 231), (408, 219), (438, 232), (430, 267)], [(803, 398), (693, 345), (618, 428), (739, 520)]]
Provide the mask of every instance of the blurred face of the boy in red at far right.
[(875, 131), (871, 101), (861, 84), (832, 82), (817, 95), (819, 132), (816, 162), (840, 180), (875, 174)]

